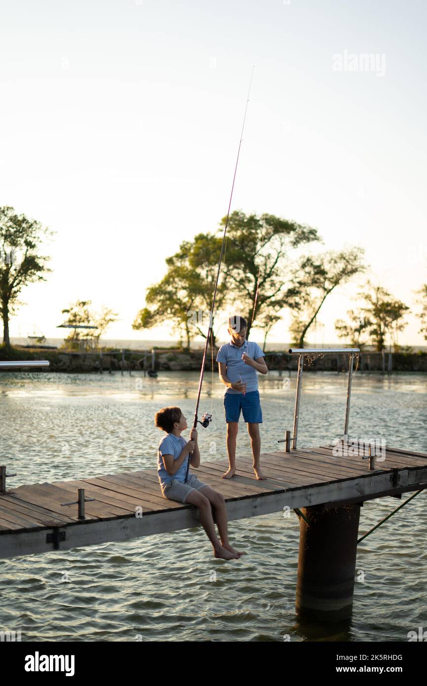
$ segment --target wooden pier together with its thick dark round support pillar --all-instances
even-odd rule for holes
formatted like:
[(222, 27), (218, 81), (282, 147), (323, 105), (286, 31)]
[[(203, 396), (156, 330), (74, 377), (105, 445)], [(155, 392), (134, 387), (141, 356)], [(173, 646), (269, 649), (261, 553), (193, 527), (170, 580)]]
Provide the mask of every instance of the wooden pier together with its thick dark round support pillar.
[[(230, 521), (295, 510), (300, 519), (295, 612), (326, 622), (352, 615), (363, 502), (400, 498), (427, 487), (425, 453), (387, 448), (371, 464), (374, 469), (369, 458), (363, 459), (365, 447), (353, 456), (334, 453), (332, 445), (264, 453), (267, 481), (256, 480), (249, 456), (237, 458), (231, 480), (221, 479), (225, 460), (210, 460), (194, 470), (223, 493)], [(4, 473), (3, 468), (3, 484)], [(84, 489), (81, 500), (83, 495), (88, 499), (84, 519), (78, 514), (78, 489)], [(0, 492), (0, 558), (188, 529), (200, 525), (197, 515), (193, 506), (162, 497), (154, 469), (17, 488), (8, 480)]]

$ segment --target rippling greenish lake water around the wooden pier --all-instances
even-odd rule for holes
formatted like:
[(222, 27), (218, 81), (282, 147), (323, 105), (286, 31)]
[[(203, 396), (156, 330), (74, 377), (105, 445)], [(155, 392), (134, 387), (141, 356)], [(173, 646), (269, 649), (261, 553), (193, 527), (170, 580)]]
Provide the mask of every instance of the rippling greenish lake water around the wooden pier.
[[(289, 387), (278, 372), (259, 381), (261, 449), (273, 451), (292, 428), (295, 375)], [(191, 425), (197, 383), (196, 372), (3, 372), (0, 460), (18, 473), (10, 487), (153, 469), (162, 436), (155, 412), (180, 405)], [(346, 383), (344, 373), (306, 374), (298, 447), (340, 435)], [(199, 414), (212, 412), (213, 421), (199, 427), (202, 460), (226, 457), (222, 397), (207, 373)], [(426, 375), (356, 372), (351, 437), (427, 453), (426, 417)], [(250, 454), (243, 419), (239, 453)], [(359, 535), (400, 504), (368, 501)], [(230, 523), (230, 541), (247, 552), (230, 563), (212, 557), (201, 528), (0, 560), (0, 630), (21, 630), (22, 641), (407, 641), (408, 631), (427, 628), (426, 505), (421, 493), (359, 545), (363, 581), (352, 619), (338, 626), (297, 619), (299, 522), (278, 512)]]

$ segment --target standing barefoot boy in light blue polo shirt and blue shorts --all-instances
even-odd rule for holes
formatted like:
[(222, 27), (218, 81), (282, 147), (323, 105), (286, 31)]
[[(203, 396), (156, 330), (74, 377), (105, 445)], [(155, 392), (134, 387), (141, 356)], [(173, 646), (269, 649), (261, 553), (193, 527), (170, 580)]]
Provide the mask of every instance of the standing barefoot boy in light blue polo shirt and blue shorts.
[(236, 472), (236, 438), (239, 429), (241, 410), (251, 437), (252, 457), (256, 478), (266, 479), (260, 469), (261, 438), (259, 425), (263, 423), (263, 413), (258, 391), (256, 372), (267, 374), (265, 355), (258, 343), (246, 340), (247, 322), (238, 315), (228, 320), (230, 343), (219, 348), (219, 378), (227, 390), (224, 395), (225, 421), (227, 422), (228, 471), (223, 479), (230, 479)]

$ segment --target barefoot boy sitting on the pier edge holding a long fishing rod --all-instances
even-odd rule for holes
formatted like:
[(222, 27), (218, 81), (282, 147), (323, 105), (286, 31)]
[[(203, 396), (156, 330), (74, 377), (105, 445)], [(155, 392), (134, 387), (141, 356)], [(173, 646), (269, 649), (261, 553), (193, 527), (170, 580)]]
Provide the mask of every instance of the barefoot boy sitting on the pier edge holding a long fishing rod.
[[(227, 510), (223, 495), (199, 481), (194, 474), (188, 473), (186, 481), (188, 460), (191, 460), (191, 465), (195, 469), (200, 464), (196, 429), (191, 429), (188, 442), (181, 436), (182, 431), (188, 429), (188, 426), (180, 407), (162, 407), (162, 410), (156, 413), (154, 423), (167, 434), (160, 440), (157, 458), (162, 495), (169, 500), (189, 503), (199, 508), (200, 523), (212, 543), (214, 556), (223, 560), (238, 559), (244, 553), (234, 550), (228, 541)], [(191, 458), (188, 457), (190, 453)], [(221, 543), (215, 531), (211, 504), (215, 509), (215, 521)]]

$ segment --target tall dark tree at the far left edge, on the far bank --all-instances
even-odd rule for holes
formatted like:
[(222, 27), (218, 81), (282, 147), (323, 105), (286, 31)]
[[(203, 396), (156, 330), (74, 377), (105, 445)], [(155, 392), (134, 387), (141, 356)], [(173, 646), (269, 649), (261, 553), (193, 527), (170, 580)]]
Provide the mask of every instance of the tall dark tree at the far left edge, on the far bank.
[(13, 207), (0, 207), (0, 313), (3, 344), (10, 346), (9, 319), (19, 305), (19, 294), (29, 283), (46, 281), (49, 257), (39, 255), (43, 241), (53, 232), (36, 220), (18, 215)]

